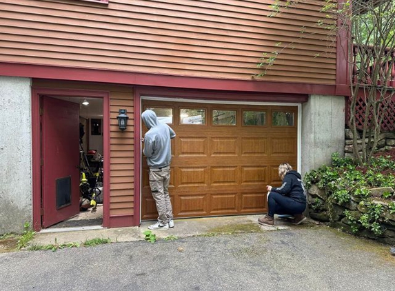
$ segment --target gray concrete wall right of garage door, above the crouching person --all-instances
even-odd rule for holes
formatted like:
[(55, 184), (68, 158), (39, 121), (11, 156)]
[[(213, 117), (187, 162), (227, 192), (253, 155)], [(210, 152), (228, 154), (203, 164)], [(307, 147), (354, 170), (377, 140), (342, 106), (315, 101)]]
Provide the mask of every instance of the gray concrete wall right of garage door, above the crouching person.
[(302, 106), (302, 170), (305, 174), (344, 156), (345, 98), (311, 95)]

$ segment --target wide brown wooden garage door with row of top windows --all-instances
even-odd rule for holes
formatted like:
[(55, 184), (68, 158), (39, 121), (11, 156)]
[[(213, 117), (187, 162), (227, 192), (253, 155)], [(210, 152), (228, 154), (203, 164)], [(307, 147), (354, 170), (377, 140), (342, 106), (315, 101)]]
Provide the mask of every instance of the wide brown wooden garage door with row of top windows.
[[(176, 132), (174, 217), (267, 212), (266, 185), (281, 185), (278, 165), (297, 166), (296, 106), (143, 101), (148, 108)], [(145, 158), (142, 185), (142, 219), (156, 219)]]

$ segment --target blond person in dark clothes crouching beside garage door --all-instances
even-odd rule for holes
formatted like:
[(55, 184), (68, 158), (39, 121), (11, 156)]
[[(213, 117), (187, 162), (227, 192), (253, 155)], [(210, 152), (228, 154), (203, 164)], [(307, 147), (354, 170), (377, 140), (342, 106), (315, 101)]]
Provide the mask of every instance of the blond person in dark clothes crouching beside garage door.
[(274, 214), (290, 214), (294, 217), (292, 220), (294, 224), (305, 221), (303, 211), (306, 209), (306, 191), (301, 174), (292, 170), (289, 163), (281, 163), (278, 166), (278, 176), (283, 180), (283, 185), (266, 186), (269, 211), (258, 219), (259, 224), (274, 225)]

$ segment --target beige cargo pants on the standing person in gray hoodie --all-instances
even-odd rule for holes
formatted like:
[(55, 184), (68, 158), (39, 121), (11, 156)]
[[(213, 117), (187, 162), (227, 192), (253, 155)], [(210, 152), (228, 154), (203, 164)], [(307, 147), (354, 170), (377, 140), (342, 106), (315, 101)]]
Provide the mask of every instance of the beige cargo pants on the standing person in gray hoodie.
[(150, 188), (158, 211), (158, 221), (168, 223), (173, 219), (172, 203), (169, 197), (170, 166), (150, 168)]

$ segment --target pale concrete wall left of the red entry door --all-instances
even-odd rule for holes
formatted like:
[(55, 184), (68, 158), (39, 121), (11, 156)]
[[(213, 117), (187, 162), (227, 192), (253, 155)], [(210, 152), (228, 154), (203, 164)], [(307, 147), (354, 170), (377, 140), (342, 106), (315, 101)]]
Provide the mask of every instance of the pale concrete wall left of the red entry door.
[(0, 234), (32, 222), (31, 80), (0, 77)]

